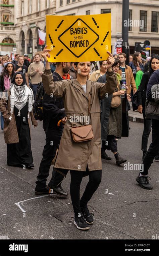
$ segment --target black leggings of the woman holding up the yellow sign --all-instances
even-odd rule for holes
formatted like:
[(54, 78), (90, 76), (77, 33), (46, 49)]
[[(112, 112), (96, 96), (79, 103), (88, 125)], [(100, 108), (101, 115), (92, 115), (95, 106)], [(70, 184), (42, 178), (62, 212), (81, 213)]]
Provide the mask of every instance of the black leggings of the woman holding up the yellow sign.
[[(81, 186), (82, 178), (84, 175), (86, 175), (86, 173), (88, 173), (89, 175), (89, 182), (80, 200), (80, 186)], [(78, 216), (78, 213), (81, 213), (81, 207), (84, 207), (87, 205), (88, 201), (91, 199), (91, 197), (99, 187), (99, 184), (102, 178), (102, 170), (88, 171), (88, 167), (87, 167), (86, 172), (70, 170), (70, 174), (71, 174), (70, 195), (71, 195), (74, 215)]]

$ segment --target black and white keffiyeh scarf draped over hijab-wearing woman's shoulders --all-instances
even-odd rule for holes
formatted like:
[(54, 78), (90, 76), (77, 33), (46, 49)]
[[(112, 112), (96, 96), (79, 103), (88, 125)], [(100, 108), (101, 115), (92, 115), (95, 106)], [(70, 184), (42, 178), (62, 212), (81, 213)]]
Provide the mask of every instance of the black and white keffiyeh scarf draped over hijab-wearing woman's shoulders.
[(27, 104), (28, 102), (28, 118), (29, 118), (29, 112), (32, 112), (33, 109), (33, 103), (34, 103), (34, 95), (31, 88), (29, 88), (26, 84), (23, 86), (18, 86), (13, 83), (10, 85), (10, 109), (11, 109), (11, 115), (9, 119), (12, 119), (12, 113), (14, 106), (19, 109), (18, 111), (18, 117), (20, 117), (20, 110)]

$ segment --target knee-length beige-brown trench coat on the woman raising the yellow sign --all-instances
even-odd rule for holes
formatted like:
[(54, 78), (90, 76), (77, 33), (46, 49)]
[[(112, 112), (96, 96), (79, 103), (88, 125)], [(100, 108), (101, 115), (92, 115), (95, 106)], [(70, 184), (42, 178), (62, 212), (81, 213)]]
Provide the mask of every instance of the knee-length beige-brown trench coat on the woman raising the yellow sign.
[[(52, 73), (44, 72), (43, 85), (45, 92), (52, 96), (63, 97), (67, 121), (64, 125), (59, 151), (55, 162), (55, 168), (86, 171), (101, 170), (101, 125), (100, 125), (100, 104), (99, 100), (105, 94), (112, 94), (117, 86), (117, 79), (114, 72), (107, 72), (107, 83), (96, 83), (87, 80), (86, 93), (81, 84), (76, 80), (53, 81)], [(71, 128), (84, 125), (85, 123), (70, 122), (70, 117), (88, 116), (88, 97), (92, 92), (90, 104), (90, 124), (92, 124), (94, 138), (85, 142), (74, 142), (72, 140)]]

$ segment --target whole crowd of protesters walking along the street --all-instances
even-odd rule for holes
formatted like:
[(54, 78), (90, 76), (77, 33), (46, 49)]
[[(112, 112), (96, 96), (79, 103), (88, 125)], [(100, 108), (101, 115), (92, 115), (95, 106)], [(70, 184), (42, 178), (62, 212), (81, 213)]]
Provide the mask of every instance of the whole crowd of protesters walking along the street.
[[(124, 53), (109, 52), (104, 61), (50, 64), (50, 51), (46, 46), (42, 54), (35, 54), (32, 60), (28, 54), (15, 54), (13, 61), (6, 55), (0, 57), (1, 130), (7, 144), (7, 164), (34, 167), (30, 119), (37, 127), (33, 104), (40, 83), (44, 89), (46, 144), (35, 194), (49, 194), (53, 189), (57, 195), (67, 197), (61, 183), (70, 171), (74, 224), (78, 229), (87, 230), (94, 222), (87, 204), (101, 182), (101, 158), (111, 160), (108, 150), (113, 153), (116, 165), (127, 161), (126, 155), (119, 155), (117, 143), (120, 142), (117, 141), (122, 136), (128, 137), (128, 111), (135, 98), (137, 111), (144, 118), (141, 143), (144, 167), (136, 180), (142, 188), (152, 189), (147, 174), (154, 158), (159, 160), (159, 99), (152, 95), (159, 91), (159, 55), (152, 54), (145, 62), (141, 53), (136, 52), (129, 56), (128, 65)], [(81, 115), (79, 113), (90, 118), (89, 124), (70, 121), (70, 116)], [(81, 128), (84, 129), (81, 131)], [(151, 129), (152, 143), (147, 150)], [(86, 139), (81, 137), (82, 133)], [(92, 137), (88, 138), (90, 134)], [(52, 178), (47, 185), (53, 159)], [(80, 185), (87, 175), (89, 182), (80, 199)]]

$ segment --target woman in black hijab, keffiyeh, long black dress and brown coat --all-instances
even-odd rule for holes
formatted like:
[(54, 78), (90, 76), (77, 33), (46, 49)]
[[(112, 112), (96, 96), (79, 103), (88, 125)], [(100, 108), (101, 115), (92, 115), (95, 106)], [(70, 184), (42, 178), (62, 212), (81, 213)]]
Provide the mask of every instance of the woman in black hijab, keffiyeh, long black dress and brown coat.
[(8, 90), (0, 101), (4, 118), (4, 140), (7, 143), (7, 164), (11, 166), (34, 167), (31, 150), (30, 118), (38, 126), (33, 115), (34, 96), (27, 87), (25, 75), (16, 72)]

